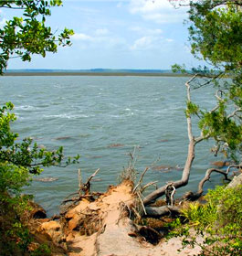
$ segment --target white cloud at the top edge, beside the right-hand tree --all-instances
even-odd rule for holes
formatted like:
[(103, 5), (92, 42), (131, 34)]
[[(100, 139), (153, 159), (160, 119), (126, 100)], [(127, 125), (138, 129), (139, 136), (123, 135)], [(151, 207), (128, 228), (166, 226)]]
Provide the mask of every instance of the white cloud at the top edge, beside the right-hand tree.
[(185, 18), (187, 8), (174, 9), (168, 0), (131, 0), (130, 12), (155, 23), (177, 23)]

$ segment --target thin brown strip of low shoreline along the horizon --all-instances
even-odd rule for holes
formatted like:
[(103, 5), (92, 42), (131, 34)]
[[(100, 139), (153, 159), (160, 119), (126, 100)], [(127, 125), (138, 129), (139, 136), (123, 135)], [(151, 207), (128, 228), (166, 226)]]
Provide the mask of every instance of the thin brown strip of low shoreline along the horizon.
[(58, 77), (58, 76), (101, 76), (101, 77), (190, 77), (187, 74), (175, 73), (140, 73), (140, 72), (6, 72), (4, 77)]

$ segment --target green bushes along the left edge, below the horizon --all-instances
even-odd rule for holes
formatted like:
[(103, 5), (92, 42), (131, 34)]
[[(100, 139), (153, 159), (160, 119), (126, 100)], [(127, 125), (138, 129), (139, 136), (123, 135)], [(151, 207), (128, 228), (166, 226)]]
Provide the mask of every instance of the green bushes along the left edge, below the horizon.
[[(11, 102), (0, 108), (0, 251), (7, 256), (15, 255), (16, 251), (22, 255), (32, 241), (20, 220), (28, 200), (21, 192), (29, 185), (31, 176), (40, 174), (43, 167), (67, 166), (79, 160), (77, 155), (65, 161), (62, 147), (56, 151), (39, 149), (29, 138), (16, 143), (18, 134), (11, 130), (11, 123), (16, 121), (13, 108)], [(49, 255), (45, 247), (32, 254)]]

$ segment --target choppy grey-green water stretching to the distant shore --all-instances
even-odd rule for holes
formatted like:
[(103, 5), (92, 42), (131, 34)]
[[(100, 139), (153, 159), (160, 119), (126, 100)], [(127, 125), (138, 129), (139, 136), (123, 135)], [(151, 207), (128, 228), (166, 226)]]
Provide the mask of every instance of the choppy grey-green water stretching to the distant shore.
[[(52, 150), (59, 145), (65, 155), (79, 154), (79, 165), (51, 167), (41, 177), (57, 177), (50, 183), (34, 181), (26, 193), (48, 214), (58, 211), (61, 200), (78, 189), (78, 169), (85, 180), (97, 168), (100, 173), (93, 190), (105, 191), (117, 183), (129, 153), (135, 146), (141, 173), (149, 165), (184, 166), (187, 153), (184, 117), (186, 78), (166, 77), (1, 77), (0, 104), (15, 104), (17, 121), (13, 125), (20, 138), (31, 136), (37, 144)], [(210, 108), (214, 104), (211, 88), (196, 91), (193, 99)], [(197, 129), (195, 133), (198, 134)], [(120, 146), (110, 146), (120, 144)], [(208, 144), (197, 145), (197, 154), (188, 187), (195, 190), (205, 169), (215, 161)], [(151, 169), (144, 182), (179, 179), (181, 170)], [(206, 187), (220, 180), (216, 176)]]

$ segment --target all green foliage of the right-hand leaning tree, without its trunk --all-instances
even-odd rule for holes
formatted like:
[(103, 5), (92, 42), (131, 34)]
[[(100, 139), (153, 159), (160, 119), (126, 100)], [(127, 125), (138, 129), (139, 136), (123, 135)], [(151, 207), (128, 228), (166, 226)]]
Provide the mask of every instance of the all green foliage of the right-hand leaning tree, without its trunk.
[[(170, 2), (184, 5), (184, 1)], [(190, 1), (188, 14), (191, 52), (207, 63), (193, 68), (194, 73), (206, 77), (195, 87), (214, 84), (217, 101), (213, 111), (201, 110), (192, 102), (188, 110), (199, 116), (202, 133), (216, 140), (216, 153), (222, 149), (227, 156), (241, 161), (242, 1)], [(174, 65), (177, 68), (182, 70), (182, 66)]]

